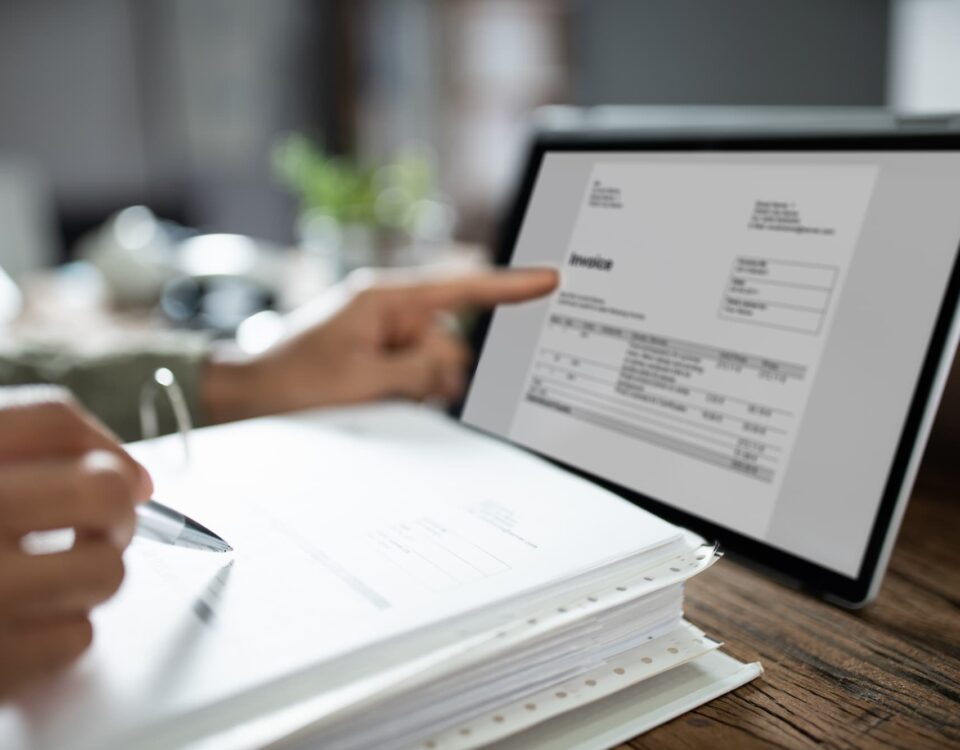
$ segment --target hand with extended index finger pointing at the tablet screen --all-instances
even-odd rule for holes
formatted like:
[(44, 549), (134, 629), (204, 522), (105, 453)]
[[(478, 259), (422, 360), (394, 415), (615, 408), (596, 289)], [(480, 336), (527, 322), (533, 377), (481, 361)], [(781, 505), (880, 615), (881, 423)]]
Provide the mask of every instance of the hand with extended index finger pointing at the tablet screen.
[(220, 422), (389, 397), (455, 399), (470, 355), (444, 315), (541, 297), (557, 282), (551, 269), (354, 275), (335, 290), (335, 304), (327, 298), (294, 313), (286, 338), (264, 354), (211, 363), (207, 416)]

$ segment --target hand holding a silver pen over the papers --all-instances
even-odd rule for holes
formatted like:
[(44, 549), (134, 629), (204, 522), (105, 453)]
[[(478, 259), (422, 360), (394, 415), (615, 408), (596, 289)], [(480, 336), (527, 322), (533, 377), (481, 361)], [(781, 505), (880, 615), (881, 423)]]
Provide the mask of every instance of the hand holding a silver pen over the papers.
[[(66, 391), (0, 388), (0, 699), (89, 646), (90, 610), (119, 588), (134, 504), (152, 491)], [(70, 549), (24, 549), (28, 534), (64, 528)]]

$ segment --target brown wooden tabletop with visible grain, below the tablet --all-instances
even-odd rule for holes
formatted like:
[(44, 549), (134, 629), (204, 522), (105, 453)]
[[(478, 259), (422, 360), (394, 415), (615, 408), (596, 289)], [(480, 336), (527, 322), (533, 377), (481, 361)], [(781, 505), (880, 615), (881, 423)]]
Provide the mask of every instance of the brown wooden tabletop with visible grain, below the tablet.
[(766, 670), (624, 748), (960, 747), (958, 478), (925, 465), (877, 600), (849, 612), (730, 559), (690, 620)]

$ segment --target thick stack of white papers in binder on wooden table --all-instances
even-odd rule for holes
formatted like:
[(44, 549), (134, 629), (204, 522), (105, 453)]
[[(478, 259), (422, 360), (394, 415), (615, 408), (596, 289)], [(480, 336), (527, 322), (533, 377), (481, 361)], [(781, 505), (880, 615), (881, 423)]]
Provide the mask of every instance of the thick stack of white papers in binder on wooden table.
[(719, 644), (683, 620), (703, 540), (439, 414), (200, 430), (186, 470), (180, 450), (134, 446), (235, 552), (135, 542), (92, 653), (0, 713), (4, 747), (546, 747), (553, 717), (591, 726), (681, 665), (703, 664), (636, 731), (758, 673), (704, 661)]

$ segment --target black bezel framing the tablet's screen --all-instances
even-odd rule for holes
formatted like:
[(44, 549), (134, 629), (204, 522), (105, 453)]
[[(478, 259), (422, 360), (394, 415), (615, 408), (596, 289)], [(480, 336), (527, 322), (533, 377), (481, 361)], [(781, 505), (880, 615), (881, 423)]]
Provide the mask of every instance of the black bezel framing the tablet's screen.
[[(539, 174), (543, 159), (551, 152), (909, 152), (909, 151), (956, 151), (960, 152), (960, 133), (899, 132), (882, 134), (821, 134), (821, 133), (764, 133), (722, 134), (701, 132), (686, 134), (656, 133), (552, 133), (535, 138), (529, 149), (515, 199), (510, 205), (496, 245), (495, 263), (507, 266), (513, 256), (517, 238), (526, 215), (527, 207)], [(720, 524), (680, 510), (656, 498), (592, 474), (589, 471), (551, 458), (527, 446), (520, 446), (504, 435), (495, 435), (503, 440), (535, 453), (572, 473), (589, 479), (623, 497), (624, 499), (658, 516), (689, 528), (697, 533), (716, 539), (725, 549), (742, 556), (780, 576), (797, 583), (820, 596), (844, 606), (857, 607), (869, 602), (879, 589), (900, 519), (913, 486), (920, 464), (927, 435), (936, 414), (940, 393), (953, 360), (957, 335), (957, 302), (960, 298), (960, 238), (954, 251), (950, 279), (937, 314), (937, 321), (930, 333), (920, 374), (914, 386), (907, 418), (904, 421), (894, 460), (891, 463), (881, 501), (877, 507), (873, 527), (856, 578), (818, 565), (810, 560), (778, 549), (771, 544), (738, 533)], [(492, 313), (482, 315), (473, 330), (472, 343), (477, 356), (474, 359), (470, 382), (476, 373), (477, 364), (483, 356), (483, 346), (489, 330)], [(469, 386), (466, 391), (469, 394)], [(462, 424), (479, 429), (462, 420), (464, 400), (453, 409), (453, 414)], [(481, 430), (483, 431), (483, 430)], [(484, 431), (486, 432), (486, 431)]]

